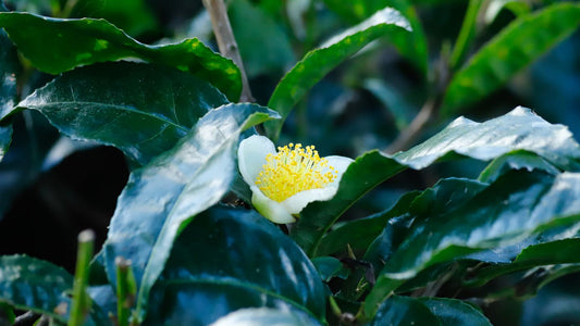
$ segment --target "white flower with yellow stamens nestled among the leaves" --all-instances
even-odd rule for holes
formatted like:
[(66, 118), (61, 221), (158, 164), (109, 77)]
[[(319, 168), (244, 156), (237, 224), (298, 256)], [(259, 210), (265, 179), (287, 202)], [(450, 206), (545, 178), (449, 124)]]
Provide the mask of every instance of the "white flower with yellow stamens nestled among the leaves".
[(295, 222), (312, 201), (330, 200), (353, 162), (344, 156), (320, 158), (313, 146), (279, 147), (263, 136), (250, 136), (237, 150), (242, 177), (251, 189), (251, 203), (274, 223)]

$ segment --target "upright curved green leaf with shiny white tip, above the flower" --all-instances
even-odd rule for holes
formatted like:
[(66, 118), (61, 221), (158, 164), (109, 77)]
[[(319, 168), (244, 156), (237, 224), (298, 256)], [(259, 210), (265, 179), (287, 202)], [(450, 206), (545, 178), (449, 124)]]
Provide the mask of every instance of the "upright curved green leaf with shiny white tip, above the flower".
[(409, 22), (399, 12), (385, 8), (362, 23), (332, 37), (318, 49), (306, 53), (305, 58), (282, 78), (268, 102), (269, 108), (282, 115), (281, 121), (264, 124), (270, 138), (277, 138), (284, 120), (294, 105), (335, 66), (380, 37), (408, 30), (410, 30)]

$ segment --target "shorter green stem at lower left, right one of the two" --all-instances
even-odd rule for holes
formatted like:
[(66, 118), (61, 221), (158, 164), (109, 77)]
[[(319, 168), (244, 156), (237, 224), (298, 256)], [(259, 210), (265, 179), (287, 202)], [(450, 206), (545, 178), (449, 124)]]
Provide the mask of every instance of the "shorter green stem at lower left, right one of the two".
[(119, 326), (128, 326), (131, 308), (137, 292), (131, 261), (122, 256), (114, 260), (116, 266), (116, 319)]

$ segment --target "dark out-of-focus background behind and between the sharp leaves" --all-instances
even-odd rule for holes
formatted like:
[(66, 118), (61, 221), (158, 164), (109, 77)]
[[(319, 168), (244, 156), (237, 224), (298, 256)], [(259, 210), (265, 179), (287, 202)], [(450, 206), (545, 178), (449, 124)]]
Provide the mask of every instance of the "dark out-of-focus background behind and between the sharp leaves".
[[(402, 0), (231, 0), (229, 15), (256, 101), (262, 105), (276, 84), (309, 50), (342, 29)], [(559, 1), (484, 1), (474, 53), (513, 22), (518, 10), (534, 11)], [(369, 4), (371, 3), (371, 4)], [(439, 68), (457, 39), (468, 1), (409, 1), (424, 30), (429, 66), (400, 55), (381, 39), (345, 62), (309, 92), (288, 116), (280, 145), (316, 145), (321, 155), (356, 158), (371, 149), (386, 150), (405, 130), (444, 79)], [(495, 3), (495, 9), (494, 9)], [(511, 3), (511, 4), (509, 4)], [(201, 1), (192, 0), (5, 0), (9, 10), (58, 17), (102, 17), (145, 43), (170, 43), (197, 37), (218, 51), (211, 22)], [(509, 5), (508, 5), (509, 4)], [(525, 41), (525, 40), (522, 40)], [(21, 58), (21, 99), (54, 76), (39, 73)], [(528, 106), (551, 123), (580, 135), (580, 32), (562, 40), (533, 64), (483, 100), (461, 108), (460, 115), (484, 121)], [(457, 116), (434, 114), (417, 135), (418, 143)], [(0, 254), (27, 253), (72, 271), (76, 235), (91, 228), (106, 238), (116, 197), (128, 166), (116, 149), (63, 138), (32, 110), (14, 117), (13, 141), (0, 163)], [(408, 148), (407, 146), (407, 148)], [(344, 218), (388, 208), (412, 189), (424, 189), (448, 176), (476, 178), (484, 163), (439, 164), (406, 172), (359, 201)], [(98, 244), (100, 247), (100, 244)], [(571, 325), (580, 321), (580, 283), (568, 275), (538, 296), (486, 303), (494, 325)]]

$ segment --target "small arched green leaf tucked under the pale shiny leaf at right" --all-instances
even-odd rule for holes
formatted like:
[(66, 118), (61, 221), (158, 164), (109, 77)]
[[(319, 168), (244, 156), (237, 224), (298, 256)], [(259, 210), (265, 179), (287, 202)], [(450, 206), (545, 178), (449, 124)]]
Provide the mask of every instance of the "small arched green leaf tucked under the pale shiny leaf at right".
[(493, 183), (497, 177), (509, 170), (541, 170), (551, 174), (558, 174), (559, 170), (550, 164), (542, 156), (525, 150), (509, 152), (493, 160), (479, 175), (482, 183)]

